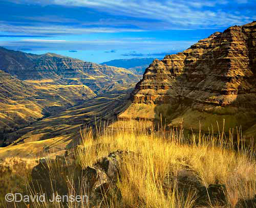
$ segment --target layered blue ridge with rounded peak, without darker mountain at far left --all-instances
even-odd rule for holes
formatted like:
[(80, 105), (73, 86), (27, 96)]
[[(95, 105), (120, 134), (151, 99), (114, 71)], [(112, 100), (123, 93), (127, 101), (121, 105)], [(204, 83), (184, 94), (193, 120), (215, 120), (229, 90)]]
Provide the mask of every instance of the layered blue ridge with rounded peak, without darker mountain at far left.
[(33, 65), (28, 68), (22, 79), (61, 79), (68, 84), (83, 83), (97, 89), (110, 82), (136, 82), (139, 77), (125, 68), (47, 53), (33, 61)]

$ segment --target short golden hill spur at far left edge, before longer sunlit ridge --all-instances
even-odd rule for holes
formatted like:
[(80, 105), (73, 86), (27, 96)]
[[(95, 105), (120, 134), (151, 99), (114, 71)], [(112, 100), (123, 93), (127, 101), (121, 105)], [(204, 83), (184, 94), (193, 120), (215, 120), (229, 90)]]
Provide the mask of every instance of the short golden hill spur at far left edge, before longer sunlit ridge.
[(42, 106), (30, 101), (35, 97), (37, 93), (32, 85), (0, 70), (0, 145), (5, 132), (42, 117)]

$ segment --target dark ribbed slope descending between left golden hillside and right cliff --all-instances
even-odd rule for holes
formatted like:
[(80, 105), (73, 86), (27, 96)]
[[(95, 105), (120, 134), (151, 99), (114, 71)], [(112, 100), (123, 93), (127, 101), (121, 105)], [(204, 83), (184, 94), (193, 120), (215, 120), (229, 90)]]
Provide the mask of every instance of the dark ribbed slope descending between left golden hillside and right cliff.
[(95, 122), (106, 126), (116, 121), (117, 114), (125, 109), (134, 85), (124, 85), (124, 89), (109, 91), (78, 106), (53, 113), (16, 132), (6, 133), (4, 145), (9, 146), (0, 148), (0, 158), (62, 153), (79, 143), (80, 129), (85, 126), (95, 126)]

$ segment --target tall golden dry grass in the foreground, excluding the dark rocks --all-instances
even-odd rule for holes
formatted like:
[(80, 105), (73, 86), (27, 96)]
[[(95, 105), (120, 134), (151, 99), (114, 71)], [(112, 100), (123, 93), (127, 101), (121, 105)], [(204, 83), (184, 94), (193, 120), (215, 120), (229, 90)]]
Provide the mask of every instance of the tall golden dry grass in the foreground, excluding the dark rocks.
[[(110, 194), (102, 207), (196, 207), (197, 193), (181, 191), (178, 176), (188, 170), (205, 187), (224, 184), (227, 202), (224, 207), (236, 207), (238, 200), (256, 194), (256, 160), (252, 145), (245, 146), (241, 131), (236, 135), (191, 134), (185, 137), (181, 128), (155, 130), (146, 122), (120, 122), (114, 126), (101, 124), (96, 130), (81, 131), (81, 144), (75, 164), (69, 170), (49, 163), (52, 180), (65, 172), (69, 193), (73, 191), (75, 167), (93, 166), (95, 162), (116, 150), (132, 151), (124, 157), (117, 187), (120, 196)], [(103, 130), (102, 130), (103, 129)], [(96, 132), (96, 133), (95, 133)], [(168, 182), (168, 178), (174, 178)], [(59, 179), (60, 180), (60, 179)], [(167, 181), (167, 183), (166, 183)], [(218, 204), (217, 204), (218, 205)], [(207, 207), (217, 207), (209, 203)], [(32, 207), (81, 207), (79, 204), (33, 204)], [(87, 207), (83, 205), (82, 207)]]

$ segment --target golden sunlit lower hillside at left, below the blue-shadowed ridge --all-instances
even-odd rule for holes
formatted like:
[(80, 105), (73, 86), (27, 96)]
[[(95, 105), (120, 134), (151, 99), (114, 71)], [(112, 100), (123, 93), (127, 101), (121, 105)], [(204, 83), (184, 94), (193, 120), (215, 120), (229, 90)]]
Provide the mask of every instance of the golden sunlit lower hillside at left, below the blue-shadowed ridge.
[(0, 71), (1, 137), (95, 96), (86, 85), (29, 83)]

